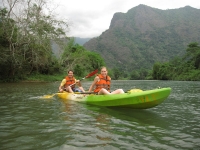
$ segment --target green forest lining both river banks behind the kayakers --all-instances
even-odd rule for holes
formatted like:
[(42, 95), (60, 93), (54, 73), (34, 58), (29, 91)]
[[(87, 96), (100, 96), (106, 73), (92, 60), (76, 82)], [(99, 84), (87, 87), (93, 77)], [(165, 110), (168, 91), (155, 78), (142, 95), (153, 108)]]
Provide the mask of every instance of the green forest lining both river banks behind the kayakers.
[[(14, 0), (4, 6), (0, 8), (0, 82), (61, 80), (69, 69), (84, 77), (106, 65), (99, 53), (67, 36), (68, 23), (47, 13), (45, 0)], [(62, 50), (59, 56), (52, 52), (52, 42)], [(200, 81), (200, 46), (189, 43), (184, 56), (156, 62), (149, 69), (108, 70), (114, 80)]]

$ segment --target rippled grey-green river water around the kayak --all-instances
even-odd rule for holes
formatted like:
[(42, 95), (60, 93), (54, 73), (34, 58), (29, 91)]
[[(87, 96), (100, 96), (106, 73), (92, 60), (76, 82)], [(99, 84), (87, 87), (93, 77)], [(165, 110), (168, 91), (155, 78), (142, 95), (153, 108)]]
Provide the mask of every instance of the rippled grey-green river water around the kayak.
[(112, 81), (113, 90), (172, 88), (146, 110), (41, 99), (59, 84), (0, 84), (1, 150), (200, 150), (200, 82)]

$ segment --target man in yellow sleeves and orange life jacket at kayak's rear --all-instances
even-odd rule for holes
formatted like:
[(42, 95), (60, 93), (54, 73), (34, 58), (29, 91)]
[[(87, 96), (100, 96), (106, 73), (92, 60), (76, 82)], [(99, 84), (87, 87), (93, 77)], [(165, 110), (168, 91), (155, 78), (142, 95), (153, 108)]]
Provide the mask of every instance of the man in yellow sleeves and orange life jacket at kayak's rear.
[[(75, 87), (76, 84), (78, 85), (78, 88)], [(75, 79), (72, 70), (68, 71), (68, 76), (66, 76), (65, 79), (63, 79), (62, 82), (60, 83), (59, 91), (60, 92), (67, 91), (69, 93), (85, 92), (85, 90), (81, 86), (81, 82)]]

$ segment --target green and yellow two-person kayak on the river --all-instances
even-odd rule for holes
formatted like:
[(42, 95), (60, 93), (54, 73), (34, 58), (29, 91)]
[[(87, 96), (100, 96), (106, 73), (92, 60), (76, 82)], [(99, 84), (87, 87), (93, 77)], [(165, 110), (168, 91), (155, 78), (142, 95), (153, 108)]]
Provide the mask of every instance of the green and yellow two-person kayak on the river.
[(147, 109), (161, 104), (171, 92), (171, 88), (161, 88), (142, 91), (133, 89), (124, 94), (95, 95), (57, 93), (63, 101), (73, 100), (81, 103), (104, 107), (129, 107), (134, 109)]

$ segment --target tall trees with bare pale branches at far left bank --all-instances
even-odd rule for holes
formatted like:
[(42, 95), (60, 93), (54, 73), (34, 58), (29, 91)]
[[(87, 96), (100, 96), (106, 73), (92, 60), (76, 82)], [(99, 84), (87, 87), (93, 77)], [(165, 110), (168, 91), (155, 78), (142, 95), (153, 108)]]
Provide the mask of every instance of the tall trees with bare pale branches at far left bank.
[(68, 24), (47, 12), (45, 0), (3, 1), (3, 6), (0, 61), (7, 70), (1, 78), (14, 79), (33, 72), (48, 74), (52, 65), (57, 64), (52, 57), (51, 41), (62, 46)]

